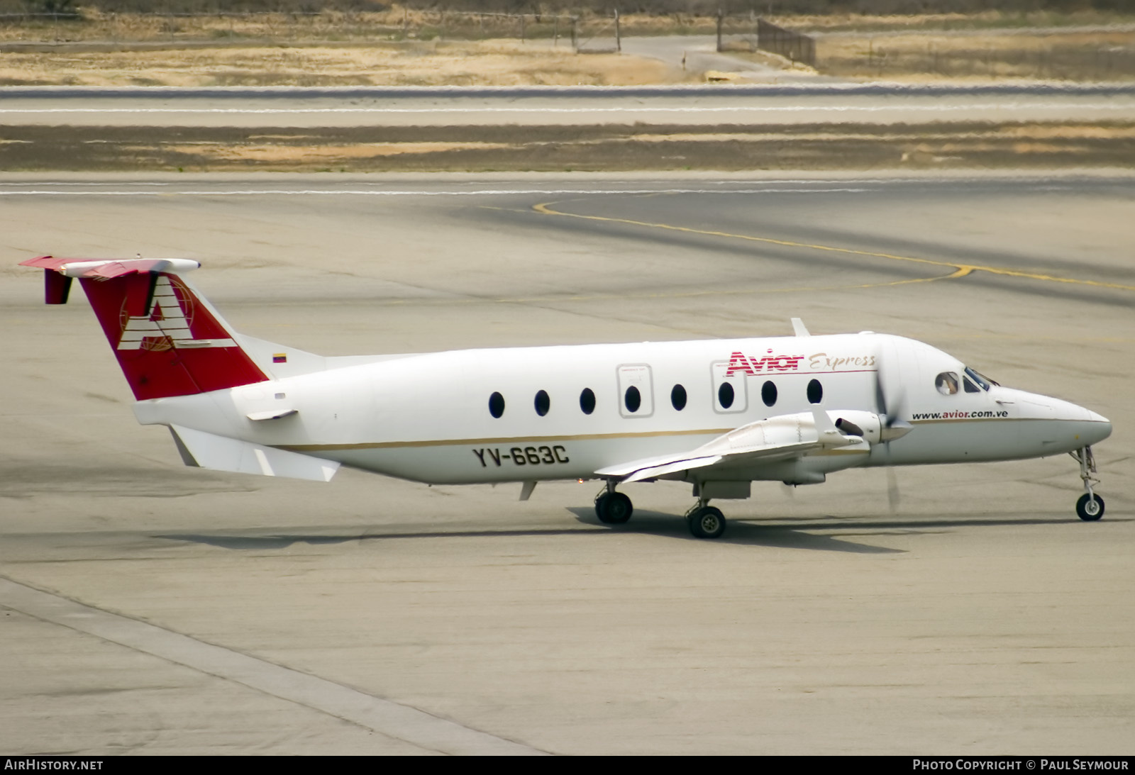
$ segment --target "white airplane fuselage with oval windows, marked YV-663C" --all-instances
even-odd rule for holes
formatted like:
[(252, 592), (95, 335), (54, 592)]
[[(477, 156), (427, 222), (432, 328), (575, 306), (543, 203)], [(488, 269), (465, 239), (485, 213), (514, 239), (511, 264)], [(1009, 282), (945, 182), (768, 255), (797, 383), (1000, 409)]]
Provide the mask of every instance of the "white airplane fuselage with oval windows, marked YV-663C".
[[(943, 373), (957, 380), (952, 394), (935, 385)], [(900, 410), (913, 427), (885, 445), (881, 389), (901, 402), (891, 413)], [(725, 475), (804, 483), (809, 473), (852, 466), (1044, 456), (1110, 432), (1088, 410), (975, 385), (957, 359), (881, 334), (407, 355), (140, 402), (137, 414), (387, 475), (471, 483), (595, 478), (758, 420), (807, 418), (814, 404), (833, 421), (857, 423), (869, 448), (741, 465)], [(276, 406), (294, 412), (249, 419)]]

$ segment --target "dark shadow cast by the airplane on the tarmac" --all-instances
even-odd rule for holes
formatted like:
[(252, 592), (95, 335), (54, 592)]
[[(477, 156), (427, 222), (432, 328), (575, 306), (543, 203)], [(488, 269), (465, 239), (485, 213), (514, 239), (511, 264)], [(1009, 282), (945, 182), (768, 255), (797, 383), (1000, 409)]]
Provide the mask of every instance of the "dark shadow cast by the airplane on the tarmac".
[[(429, 538), (501, 538), (523, 536), (609, 536), (612, 533), (640, 533), (673, 538), (678, 540), (703, 541), (690, 536), (681, 516), (662, 512), (639, 511), (634, 519), (623, 525), (599, 523), (590, 508), (569, 508), (578, 528), (527, 529), (527, 530), (429, 530), (413, 532), (371, 532), (369, 530), (339, 533), (270, 533), (249, 536), (238, 533), (165, 533), (154, 538), (204, 544), (233, 550), (285, 549), (294, 544), (323, 545), (348, 544), (351, 541), (429, 539)], [(1068, 520), (1078, 522), (1078, 520)], [(792, 524), (759, 524), (733, 520), (726, 533), (714, 544), (738, 544), (818, 551), (851, 551), (859, 554), (903, 554), (902, 549), (872, 546), (848, 540), (851, 537), (934, 534), (956, 528), (985, 528), (1004, 525), (1052, 525), (1062, 520), (1052, 519), (948, 519), (918, 520), (893, 517), (888, 520), (857, 521), (854, 519), (812, 519)], [(812, 531), (841, 531), (840, 536), (817, 534)]]

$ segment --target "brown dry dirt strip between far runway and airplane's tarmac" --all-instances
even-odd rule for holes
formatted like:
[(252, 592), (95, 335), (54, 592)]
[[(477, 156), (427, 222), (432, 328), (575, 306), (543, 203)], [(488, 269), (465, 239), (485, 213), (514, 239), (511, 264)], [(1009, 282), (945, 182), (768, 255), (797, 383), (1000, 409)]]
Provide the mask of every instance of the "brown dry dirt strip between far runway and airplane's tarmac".
[(0, 128), (7, 170), (1003, 169), (1133, 161), (1135, 126), (1127, 123)]

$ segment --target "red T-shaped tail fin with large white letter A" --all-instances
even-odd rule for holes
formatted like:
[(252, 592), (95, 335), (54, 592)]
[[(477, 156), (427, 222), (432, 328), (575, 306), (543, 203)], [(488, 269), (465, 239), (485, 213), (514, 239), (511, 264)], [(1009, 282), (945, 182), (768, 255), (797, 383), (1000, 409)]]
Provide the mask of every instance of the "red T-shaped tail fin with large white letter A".
[(48, 304), (66, 304), (73, 278), (91, 300), (134, 397), (165, 398), (263, 382), (264, 372), (186, 280), (187, 259), (56, 259), (20, 262), (44, 270)]

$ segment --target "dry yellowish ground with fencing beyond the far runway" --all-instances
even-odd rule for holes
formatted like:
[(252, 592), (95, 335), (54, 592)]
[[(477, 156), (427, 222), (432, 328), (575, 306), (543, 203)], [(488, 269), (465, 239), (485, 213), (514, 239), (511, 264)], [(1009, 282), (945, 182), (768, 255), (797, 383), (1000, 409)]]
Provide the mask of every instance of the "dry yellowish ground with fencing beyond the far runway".
[[(678, 83), (674, 62), (577, 56), (570, 17), (404, 11), (163, 17), (84, 12), (0, 24), (0, 85), (638, 85)], [(622, 34), (712, 35), (715, 19), (622, 17)], [(1123, 14), (773, 17), (819, 35), (824, 75), (888, 79), (1135, 78), (1135, 16)], [(611, 19), (574, 24), (581, 45), (614, 50)], [(724, 43), (751, 48), (750, 16)], [(526, 40), (521, 40), (521, 39)], [(444, 39), (444, 40), (443, 40)], [(602, 43), (597, 44), (596, 41)], [(609, 45), (607, 45), (609, 43)], [(791, 64), (757, 54), (763, 64)]]

